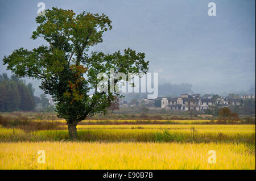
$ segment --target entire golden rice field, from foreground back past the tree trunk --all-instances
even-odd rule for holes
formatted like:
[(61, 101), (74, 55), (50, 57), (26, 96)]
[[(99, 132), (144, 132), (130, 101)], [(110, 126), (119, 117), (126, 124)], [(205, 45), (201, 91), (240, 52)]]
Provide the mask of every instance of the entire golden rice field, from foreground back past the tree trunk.
[[(117, 121), (123, 123), (82, 121), (77, 141), (68, 140), (63, 120), (44, 121), (56, 124), (54, 129), (0, 126), (0, 169), (255, 169), (255, 125)], [(43, 164), (38, 150), (45, 152)], [(208, 162), (210, 150), (216, 163)]]

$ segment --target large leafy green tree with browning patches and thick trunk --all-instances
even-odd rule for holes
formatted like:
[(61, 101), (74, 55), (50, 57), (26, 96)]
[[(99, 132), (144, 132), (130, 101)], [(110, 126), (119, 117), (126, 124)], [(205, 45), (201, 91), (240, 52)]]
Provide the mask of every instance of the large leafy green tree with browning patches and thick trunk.
[[(36, 17), (36, 23), (39, 26), (31, 38), (42, 37), (48, 44), (32, 50), (16, 49), (3, 62), (20, 77), (42, 80), (40, 88), (55, 100), (58, 116), (67, 120), (69, 136), (75, 139), (80, 121), (106, 112), (115, 96), (121, 97), (110, 89), (97, 91), (101, 81), (97, 75), (102, 72), (110, 75), (110, 69), (114, 74), (146, 73), (148, 61), (144, 61), (144, 53), (129, 48), (124, 54), (88, 53), (89, 48), (102, 42), (102, 34), (112, 29), (112, 22), (105, 14), (84, 11), (76, 15), (73, 10), (53, 7)], [(90, 91), (94, 92), (92, 97)]]

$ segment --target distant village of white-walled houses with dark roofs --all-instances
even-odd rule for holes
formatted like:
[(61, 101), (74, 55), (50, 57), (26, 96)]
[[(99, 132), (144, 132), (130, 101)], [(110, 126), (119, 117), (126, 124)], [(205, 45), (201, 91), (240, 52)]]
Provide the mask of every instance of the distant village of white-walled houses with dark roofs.
[[(173, 111), (204, 111), (210, 106), (218, 105), (218, 107), (242, 106), (243, 100), (255, 99), (254, 95), (241, 95), (239, 98), (230, 98), (229, 96), (218, 96), (205, 94), (181, 94), (179, 97), (158, 97), (155, 99), (143, 98), (136, 102), (131, 100), (130, 103), (120, 100), (120, 107), (137, 107), (138, 105), (147, 108), (164, 108)], [(159, 104), (157, 104), (158, 102)]]

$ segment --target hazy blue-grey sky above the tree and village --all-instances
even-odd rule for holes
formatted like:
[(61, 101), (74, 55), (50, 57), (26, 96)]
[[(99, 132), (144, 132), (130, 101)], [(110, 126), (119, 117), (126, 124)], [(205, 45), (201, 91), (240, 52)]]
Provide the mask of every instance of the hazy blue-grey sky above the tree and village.
[[(0, 73), (3, 56), (44, 43), (30, 39), (39, 2), (76, 13), (105, 13), (113, 29), (93, 50), (130, 47), (146, 53), (150, 72), (199, 93), (234, 92), (255, 85), (255, 1), (3, 1), (0, 0)], [(208, 16), (215, 2), (217, 16)], [(9, 72), (10, 73), (10, 72)], [(36, 86), (39, 82), (32, 81)]]

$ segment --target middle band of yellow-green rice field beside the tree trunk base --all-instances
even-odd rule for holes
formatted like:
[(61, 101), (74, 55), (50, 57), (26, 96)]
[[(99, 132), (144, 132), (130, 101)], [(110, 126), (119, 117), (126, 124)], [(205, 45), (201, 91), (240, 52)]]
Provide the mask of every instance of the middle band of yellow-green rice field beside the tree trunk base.
[[(195, 132), (191, 131), (195, 128)], [(80, 141), (247, 142), (255, 144), (255, 125), (78, 125)], [(164, 131), (168, 135), (164, 134)], [(194, 136), (193, 136), (194, 134)], [(0, 127), (0, 141), (68, 140), (64, 130), (25, 132)]]

